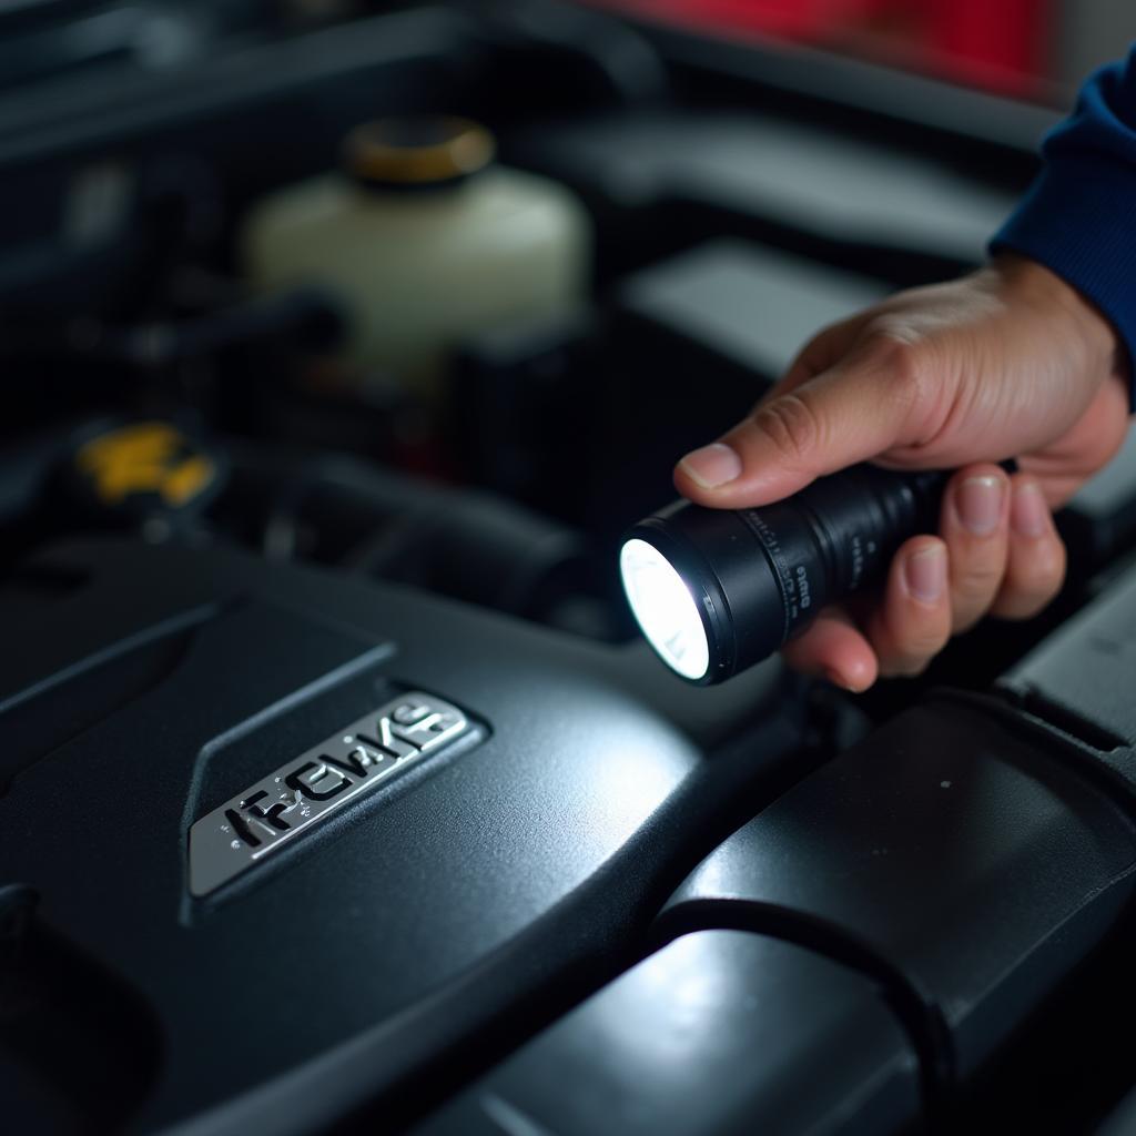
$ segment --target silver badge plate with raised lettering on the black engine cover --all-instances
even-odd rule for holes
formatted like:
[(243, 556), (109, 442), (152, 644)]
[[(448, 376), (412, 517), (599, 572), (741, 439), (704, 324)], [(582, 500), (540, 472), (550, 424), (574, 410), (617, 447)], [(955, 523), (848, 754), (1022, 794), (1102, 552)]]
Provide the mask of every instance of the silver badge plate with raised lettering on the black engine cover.
[(471, 729), (457, 707), (420, 691), (365, 715), (193, 825), (190, 892), (207, 895)]

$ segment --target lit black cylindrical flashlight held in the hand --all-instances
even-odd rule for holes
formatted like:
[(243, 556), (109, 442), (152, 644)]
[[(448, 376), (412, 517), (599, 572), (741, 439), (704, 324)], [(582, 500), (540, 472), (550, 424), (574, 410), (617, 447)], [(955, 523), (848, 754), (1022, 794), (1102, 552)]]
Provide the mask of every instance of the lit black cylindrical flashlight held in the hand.
[(934, 532), (947, 477), (862, 465), (760, 509), (676, 501), (624, 541), (632, 612), (676, 674), (725, 682), (878, 580), (909, 536)]

